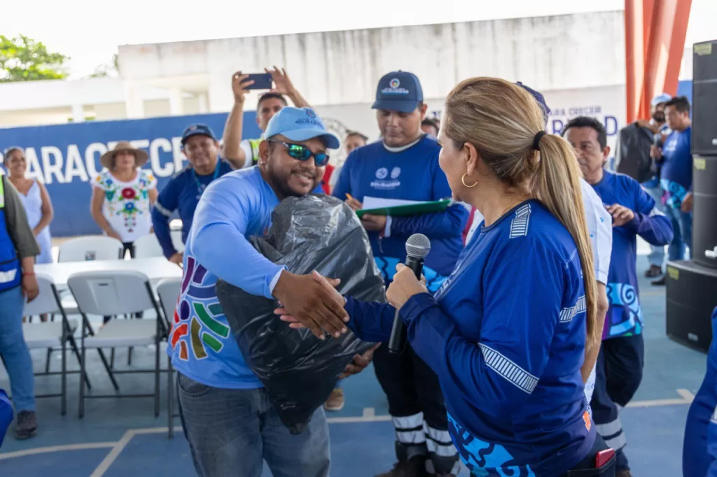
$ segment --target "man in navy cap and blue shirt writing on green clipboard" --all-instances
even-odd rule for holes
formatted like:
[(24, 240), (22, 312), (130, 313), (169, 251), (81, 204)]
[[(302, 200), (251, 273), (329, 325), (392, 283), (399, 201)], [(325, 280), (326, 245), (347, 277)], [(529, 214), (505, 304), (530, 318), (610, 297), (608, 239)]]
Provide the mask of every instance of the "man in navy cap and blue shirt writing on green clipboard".
[[(341, 169), (333, 196), (355, 209), (368, 197), (436, 201), (451, 196), (438, 165), (440, 145), (421, 130), (426, 114), (421, 83), (415, 74), (386, 74), (376, 90), (376, 119), (382, 140), (353, 150)], [(467, 210), (460, 204), (446, 211), (408, 217), (364, 215), (376, 263), (386, 285), (396, 265), (406, 259), (406, 240), (423, 233), (431, 240), (424, 275), (436, 291), (450, 274), (463, 248)], [(402, 355), (387, 347), (374, 353), (376, 377), (389, 400), (396, 429), (398, 463), (383, 477), (452, 476), (457, 474), (457, 451), (448, 434), (445, 404), (435, 373), (409, 345)]]

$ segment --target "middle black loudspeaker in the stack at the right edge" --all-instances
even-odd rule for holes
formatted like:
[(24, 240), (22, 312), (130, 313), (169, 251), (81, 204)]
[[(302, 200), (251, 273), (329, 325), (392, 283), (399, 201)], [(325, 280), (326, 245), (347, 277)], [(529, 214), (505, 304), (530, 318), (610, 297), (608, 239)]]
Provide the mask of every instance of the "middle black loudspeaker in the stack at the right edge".
[(717, 268), (717, 156), (695, 155), (693, 168), (690, 256), (698, 264)]

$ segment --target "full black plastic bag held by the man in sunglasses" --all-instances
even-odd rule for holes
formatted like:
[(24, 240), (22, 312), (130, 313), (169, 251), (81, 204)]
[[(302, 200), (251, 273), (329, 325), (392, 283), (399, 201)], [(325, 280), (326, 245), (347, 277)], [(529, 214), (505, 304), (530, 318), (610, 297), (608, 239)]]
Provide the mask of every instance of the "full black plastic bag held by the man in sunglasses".
[[(337, 198), (318, 194), (286, 198), (272, 213), (267, 238), (252, 237), (250, 242), (295, 274), (317, 270), (341, 279), (341, 294), (385, 301), (384, 279), (364, 227)], [(293, 434), (300, 433), (323, 405), (353, 355), (371, 347), (350, 330), (339, 338), (327, 334), (321, 340), (308, 329), (292, 329), (274, 314), (275, 300), (225, 281), (217, 282), (217, 297), (244, 359)]]

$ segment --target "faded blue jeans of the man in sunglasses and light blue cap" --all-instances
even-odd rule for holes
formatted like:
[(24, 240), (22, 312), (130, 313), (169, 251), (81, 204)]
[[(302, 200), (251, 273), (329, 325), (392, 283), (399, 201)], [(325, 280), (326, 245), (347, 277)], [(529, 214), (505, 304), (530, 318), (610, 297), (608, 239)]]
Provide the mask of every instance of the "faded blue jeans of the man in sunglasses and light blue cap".
[(179, 411), (199, 477), (327, 477), (331, 458), (323, 407), (292, 435), (264, 388), (220, 389), (177, 373)]

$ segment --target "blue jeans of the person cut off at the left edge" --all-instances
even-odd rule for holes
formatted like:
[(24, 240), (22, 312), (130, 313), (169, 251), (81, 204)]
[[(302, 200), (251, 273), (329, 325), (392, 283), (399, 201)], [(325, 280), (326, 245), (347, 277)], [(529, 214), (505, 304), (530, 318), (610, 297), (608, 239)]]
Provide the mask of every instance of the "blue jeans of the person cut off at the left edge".
[(22, 336), (22, 288), (0, 293), (0, 355), (10, 377), (12, 402), (17, 412), (34, 411), (34, 375), (32, 358)]

